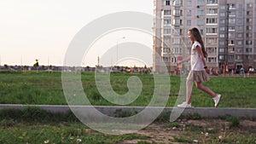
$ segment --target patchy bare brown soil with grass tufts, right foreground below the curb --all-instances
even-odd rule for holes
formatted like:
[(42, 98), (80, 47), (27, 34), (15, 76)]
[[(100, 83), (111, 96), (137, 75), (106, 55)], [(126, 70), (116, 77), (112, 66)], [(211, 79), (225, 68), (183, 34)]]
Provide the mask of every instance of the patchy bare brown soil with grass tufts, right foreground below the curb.
[[(119, 144), (137, 144), (139, 141), (143, 141), (144, 143), (147, 144), (188, 143), (183, 141), (177, 141), (176, 138), (180, 137), (187, 137), (187, 140), (191, 141), (191, 143), (205, 143), (206, 141), (213, 141), (211, 139), (214, 139), (214, 141), (219, 141), (219, 143), (224, 143), (224, 136), (236, 136), (236, 134), (234, 134), (235, 132), (238, 132), (239, 135), (245, 137), (255, 136), (255, 134), (247, 135), (248, 129), (253, 130), (253, 132), (256, 132), (256, 121), (250, 120), (241, 120), (239, 126), (235, 128), (230, 127), (230, 122), (227, 122), (222, 119), (180, 120), (176, 123), (179, 125), (178, 127), (173, 127), (172, 124), (168, 122), (156, 122), (154, 124), (150, 124), (148, 125), (147, 128), (137, 131), (137, 134), (146, 135), (149, 137), (148, 139), (121, 141), (119, 142)], [(192, 125), (195, 128), (199, 129), (188, 129), (188, 125)], [(207, 131), (210, 131), (210, 134)], [(254, 142), (256, 143), (256, 140)]]

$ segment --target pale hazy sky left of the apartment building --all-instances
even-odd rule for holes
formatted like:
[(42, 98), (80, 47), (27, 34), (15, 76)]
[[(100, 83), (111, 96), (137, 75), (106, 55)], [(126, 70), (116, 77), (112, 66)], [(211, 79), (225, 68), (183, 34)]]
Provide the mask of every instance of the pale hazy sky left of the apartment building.
[[(154, 1), (0, 0), (0, 64), (32, 66), (38, 59), (39, 65), (61, 66), (69, 43), (82, 27), (121, 11), (153, 14)], [(125, 39), (129, 37), (122, 39), (124, 43)], [(148, 45), (152, 46), (151, 37)], [(95, 66), (97, 56), (84, 65)]]

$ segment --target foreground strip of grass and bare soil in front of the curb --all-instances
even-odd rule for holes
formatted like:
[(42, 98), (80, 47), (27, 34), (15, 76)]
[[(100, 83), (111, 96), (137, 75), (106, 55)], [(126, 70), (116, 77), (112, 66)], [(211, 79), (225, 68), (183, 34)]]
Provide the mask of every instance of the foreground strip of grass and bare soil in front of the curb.
[[(197, 142), (196, 142), (197, 141)], [(155, 121), (129, 135), (106, 135), (80, 123), (73, 113), (45, 112), (36, 107), (0, 111), (2, 144), (170, 144), (255, 143), (256, 122), (226, 116), (218, 119), (179, 118)]]

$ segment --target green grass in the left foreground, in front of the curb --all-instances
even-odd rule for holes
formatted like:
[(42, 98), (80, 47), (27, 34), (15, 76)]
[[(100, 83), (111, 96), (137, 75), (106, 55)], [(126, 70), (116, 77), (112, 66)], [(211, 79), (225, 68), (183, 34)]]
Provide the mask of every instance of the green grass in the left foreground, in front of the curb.
[[(38, 107), (0, 110), (0, 143), (113, 144), (130, 139), (146, 140), (148, 136), (105, 135), (90, 130), (72, 112), (51, 113)], [(49, 142), (48, 142), (49, 141)]]

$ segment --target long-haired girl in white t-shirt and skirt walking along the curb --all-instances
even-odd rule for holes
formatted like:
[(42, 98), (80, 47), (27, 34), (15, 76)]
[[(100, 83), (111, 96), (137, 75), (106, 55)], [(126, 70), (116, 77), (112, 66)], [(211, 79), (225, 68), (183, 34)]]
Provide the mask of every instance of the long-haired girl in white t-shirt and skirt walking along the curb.
[(184, 61), (190, 60), (191, 71), (189, 72), (186, 83), (186, 101), (180, 105), (177, 105), (177, 107), (191, 107), (193, 82), (195, 82), (197, 89), (201, 89), (208, 95), (211, 95), (215, 103), (214, 106), (218, 107), (218, 102), (221, 99), (221, 95), (214, 93), (211, 89), (202, 84), (202, 82), (207, 82), (210, 79), (209, 75), (207, 74), (210, 70), (207, 68), (207, 52), (202, 41), (201, 34), (197, 28), (190, 29), (188, 34), (192, 42), (191, 55), (182, 61), (178, 61), (178, 63), (183, 63)]

